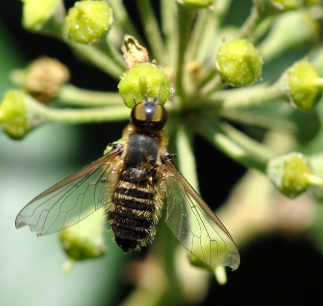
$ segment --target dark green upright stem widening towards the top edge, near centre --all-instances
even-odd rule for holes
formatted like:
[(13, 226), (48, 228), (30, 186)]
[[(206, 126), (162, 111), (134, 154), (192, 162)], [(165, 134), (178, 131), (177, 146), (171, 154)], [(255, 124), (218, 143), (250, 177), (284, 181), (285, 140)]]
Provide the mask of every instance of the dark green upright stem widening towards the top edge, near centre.
[(191, 35), (191, 28), (194, 18), (198, 12), (196, 8), (181, 5), (177, 2), (178, 10), (178, 48), (176, 55), (176, 94), (181, 97), (181, 104), (185, 103), (184, 87), (183, 87), (183, 69), (186, 57), (187, 43)]

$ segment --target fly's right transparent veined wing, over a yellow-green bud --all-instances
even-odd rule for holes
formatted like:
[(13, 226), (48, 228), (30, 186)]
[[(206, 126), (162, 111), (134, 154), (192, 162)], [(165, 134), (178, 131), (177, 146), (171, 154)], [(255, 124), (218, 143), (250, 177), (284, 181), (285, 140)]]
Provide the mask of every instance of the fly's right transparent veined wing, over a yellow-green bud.
[(229, 232), (172, 160), (165, 162), (167, 225), (180, 243), (206, 265), (235, 270), (240, 257)]

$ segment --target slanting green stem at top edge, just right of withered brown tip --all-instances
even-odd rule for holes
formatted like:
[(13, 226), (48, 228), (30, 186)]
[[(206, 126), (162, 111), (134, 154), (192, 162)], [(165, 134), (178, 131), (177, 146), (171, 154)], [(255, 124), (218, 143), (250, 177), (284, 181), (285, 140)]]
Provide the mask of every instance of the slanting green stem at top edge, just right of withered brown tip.
[(154, 59), (165, 65), (165, 45), (150, 0), (137, 0), (137, 6)]

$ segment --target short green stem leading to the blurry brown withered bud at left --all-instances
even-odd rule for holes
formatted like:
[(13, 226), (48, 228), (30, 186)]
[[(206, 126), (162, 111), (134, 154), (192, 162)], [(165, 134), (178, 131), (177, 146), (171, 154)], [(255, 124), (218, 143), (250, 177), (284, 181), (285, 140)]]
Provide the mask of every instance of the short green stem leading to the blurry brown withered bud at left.
[(77, 107), (104, 107), (122, 105), (123, 101), (117, 92), (99, 92), (64, 85), (58, 95), (61, 104)]

